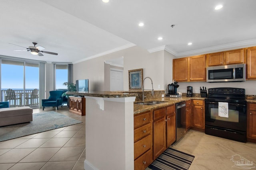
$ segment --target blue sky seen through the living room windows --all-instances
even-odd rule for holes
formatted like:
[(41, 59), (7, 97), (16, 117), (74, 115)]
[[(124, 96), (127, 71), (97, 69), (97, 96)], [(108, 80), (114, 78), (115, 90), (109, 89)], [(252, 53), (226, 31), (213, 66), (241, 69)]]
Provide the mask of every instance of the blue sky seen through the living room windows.
[[(26, 89), (39, 89), (39, 68), (26, 66)], [(24, 82), (23, 66), (1, 64), (1, 88), (22, 89)], [(63, 86), (68, 81), (68, 70), (56, 70), (56, 89), (67, 88)]]

